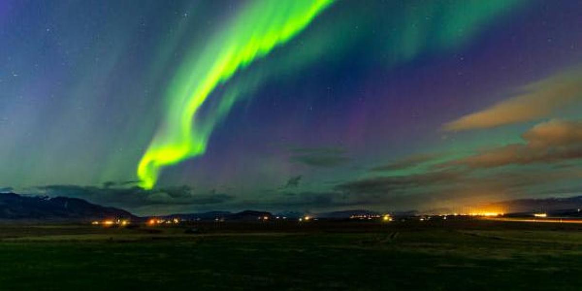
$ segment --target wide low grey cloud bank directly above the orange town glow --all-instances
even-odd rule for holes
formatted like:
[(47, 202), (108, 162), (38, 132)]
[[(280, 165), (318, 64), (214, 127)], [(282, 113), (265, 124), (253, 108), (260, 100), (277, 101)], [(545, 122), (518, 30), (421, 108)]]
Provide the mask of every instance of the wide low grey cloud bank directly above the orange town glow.
[(546, 191), (556, 189), (556, 185), (576, 184), (581, 178), (581, 169), (441, 169), (352, 180), (337, 184), (333, 190), (344, 193), (347, 203), (379, 210), (450, 210), (505, 197), (547, 196)]

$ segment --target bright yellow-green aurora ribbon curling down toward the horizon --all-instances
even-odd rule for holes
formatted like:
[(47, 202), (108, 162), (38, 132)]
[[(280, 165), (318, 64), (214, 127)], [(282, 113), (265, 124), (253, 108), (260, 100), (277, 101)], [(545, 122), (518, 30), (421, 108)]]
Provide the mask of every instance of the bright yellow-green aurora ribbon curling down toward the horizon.
[(201, 54), (178, 69), (166, 93), (168, 111), (137, 168), (140, 186), (151, 189), (162, 167), (204, 153), (215, 123), (232, 107), (221, 102), (217, 116), (196, 115), (217, 86), (240, 68), (267, 55), (303, 30), (332, 0), (254, 1), (216, 34)]

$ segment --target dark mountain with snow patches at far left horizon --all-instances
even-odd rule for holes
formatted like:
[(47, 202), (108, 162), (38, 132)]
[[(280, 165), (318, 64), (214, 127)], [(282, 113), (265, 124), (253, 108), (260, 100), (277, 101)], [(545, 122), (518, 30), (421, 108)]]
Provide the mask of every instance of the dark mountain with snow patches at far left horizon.
[(113, 219), (136, 218), (119, 208), (104, 207), (79, 198), (21, 196), (0, 193), (0, 219)]

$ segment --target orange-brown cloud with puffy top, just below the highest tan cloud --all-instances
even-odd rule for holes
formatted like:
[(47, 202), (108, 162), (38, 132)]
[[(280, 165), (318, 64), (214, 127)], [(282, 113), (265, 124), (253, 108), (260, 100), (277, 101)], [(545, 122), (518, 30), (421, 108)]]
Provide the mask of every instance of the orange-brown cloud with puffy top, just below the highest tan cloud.
[(561, 162), (582, 158), (582, 122), (552, 119), (535, 125), (522, 134), (526, 143), (508, 144), (439, 166), (465, 165), (470, 168), (494, 168)]

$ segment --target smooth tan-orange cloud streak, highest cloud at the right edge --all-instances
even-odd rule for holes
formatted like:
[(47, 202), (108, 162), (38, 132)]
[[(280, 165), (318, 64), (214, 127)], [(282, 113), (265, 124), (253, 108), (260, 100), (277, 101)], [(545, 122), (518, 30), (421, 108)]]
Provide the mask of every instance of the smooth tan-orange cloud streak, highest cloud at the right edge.
[(536, 120), (579, 101), (582, 101), (580, 68), (529, 84), (515, 97), (445, 123), (443, 130), (485, 129)]

